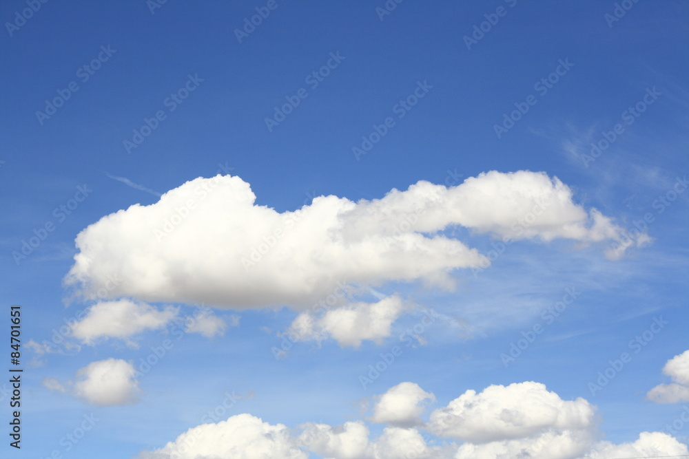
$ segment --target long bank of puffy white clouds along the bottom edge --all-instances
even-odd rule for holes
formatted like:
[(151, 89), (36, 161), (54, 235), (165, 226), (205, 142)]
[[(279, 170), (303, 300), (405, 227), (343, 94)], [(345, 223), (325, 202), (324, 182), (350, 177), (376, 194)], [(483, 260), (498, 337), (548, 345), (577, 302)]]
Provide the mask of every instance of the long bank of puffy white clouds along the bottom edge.
[[(380, 421), (389, 419), (397, 423), (415, 418), (418, 413), (410, 414), (404, 407), (413, 411), (418, 407), (413, 401), (432, 397), (414, 383), (392, 387), (384, 396), (400, 394), (404, 392), (402, 389), (407, 390), (407, 396), (383, 403), (387, 405), (384, 412), (391, 414), (382, 416)], [(395, 400), (402, 407), (394, 407)], [(460, 411), (469, 416), (466, 423), (452, 418), (454, 425), (444, 424), (440, 429), (443, 435), (449, 432), (457, 440), (464, 440), (459, 445), (452, 441), (438, 442), (422, 434), (420, 429), (437, 433), (437, 419), (436, 423), (418, 428), (386, 426), (378, 438), (371, 438), (369, 427), (362, 420), (334, 427), (305, 423), (293, 430), (282, 424), (264, 423), (251, 414), (238, 414), (219, 423), (193, 427), (165, 447), (143, 451), (139, 457), (306, 459), (311, 457), (310, 452), (327, 459), (617, 459), (687, 453), (686, 445), (659, 432), (644, 432), (639, 440), (622, 445), (597, 442), (594, 407), (582, 398), (562, 401), (539, 383), (493, 385), (479, 394), (467, 391), (449, 407), (455, 415)], [(472, 422), (476, 425), (469, 425)], [(460, 431), (461, 438), (455, 435)]]

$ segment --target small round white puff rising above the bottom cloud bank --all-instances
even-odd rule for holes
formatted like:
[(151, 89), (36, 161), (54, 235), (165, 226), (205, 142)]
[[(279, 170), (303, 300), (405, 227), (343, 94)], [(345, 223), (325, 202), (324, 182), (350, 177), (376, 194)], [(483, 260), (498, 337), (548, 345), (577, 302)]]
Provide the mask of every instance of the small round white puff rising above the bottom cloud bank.
[(380, 396), (371, 420), (402, 427), (418, 425), (426, 401), (435, 401), (435, 396), (416, 383), (400, 383)]

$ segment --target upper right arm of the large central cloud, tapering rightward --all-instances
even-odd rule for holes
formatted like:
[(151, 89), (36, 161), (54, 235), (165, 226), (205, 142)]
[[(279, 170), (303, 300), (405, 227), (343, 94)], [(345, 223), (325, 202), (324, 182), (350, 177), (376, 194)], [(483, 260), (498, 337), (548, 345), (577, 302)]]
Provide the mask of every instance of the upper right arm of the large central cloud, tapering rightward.
[(361, 236), (380, 228), (389, 233), (400, 231), (402, 222), (409, 220), (404, 217), (421, 209), (418, 223), (413, 225), (420, 232), (459, 224), (477, 233), (513, 239), (602, 241), (620, 237), (621, 228), (608, 217), (595, 209), (587, 213), (572, 198), (572, 191), (557, 178), (530, 171), (490, 171), (450, 188), (422, 181), (407, 191), (393, 189), (380, 200), (360, 202), (348, 215), (345, 233)]

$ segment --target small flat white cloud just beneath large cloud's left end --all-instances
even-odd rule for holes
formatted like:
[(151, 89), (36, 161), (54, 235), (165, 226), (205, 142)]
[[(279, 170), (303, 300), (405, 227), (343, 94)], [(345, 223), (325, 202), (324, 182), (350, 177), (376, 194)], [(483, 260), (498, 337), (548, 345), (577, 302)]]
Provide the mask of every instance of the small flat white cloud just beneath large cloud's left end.
[(72, 325), (72, 336), (92, 345), (100, 337), (128, 339), (144, 330), (164, 328), (178, 308), (158, 310), (128, 299), (102, 301), (88, 308), (86, 317)]

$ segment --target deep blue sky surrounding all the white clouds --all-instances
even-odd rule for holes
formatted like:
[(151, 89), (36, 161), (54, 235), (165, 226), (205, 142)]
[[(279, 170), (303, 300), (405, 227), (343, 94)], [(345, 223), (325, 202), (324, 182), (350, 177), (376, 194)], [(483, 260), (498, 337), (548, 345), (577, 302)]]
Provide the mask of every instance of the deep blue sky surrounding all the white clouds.
[[(11, 304), (22, 306), (24, 372), (21, 451), (8, 446), (3, 432), (2, 456), (48, 458), (57, 450), (72, 458), (134, 457), (202, 424), (224, 392), (233, 391), (242, 397), (223, 419), (250, 413), (273, 425), (340, 425), (369, 416), (373, 396), (404, 381), (435, 395), (431, 409), (469, 389), (544, 383), (563, 400), (582, 397), (596, 405), (597, 435), (615, 443), (664, 431), (677, 419), (683, 403), (653, 403), (646, 393), (670, 382), (662, 368), (689, 348), (689, 194), (677, 194), (662, 213), (653, 206), (689, 170), (688, 4), (639, 1), (610, 23), (606, 14), (615, 3), (606, 1), (404, 1), (381, 17), (382, 0), (278, 0), (240, 42), (235, 30), (265, 4), (169, 1), (151, 10), (143, 0), (49, 1), (21, 27), (6, 25), (0, 41), (6, 63), (0, 77), (0, 295), (6, 317)], [(504, 17), (468, 49), (464, 36), (498, 7)], [(24, 1), (3, 1), (0, 18), (14, 22), (25, 8)], [(110, 47), (112, 56), (84, 82), (77, 72), (101, 47)], [(313, 88), (307, 76), (331, 55), (342, 59)], [(535, 89), (565, 61), (571, 66), (557, 83), (545, 94)], [(165, 99), (189, 75), (200, 78), (198, 87), (170, 111)], [(45, 101), (72, 81), (78, 91), (39, 119)], [(398, 118), (395, 105), (419, 84), (430, 89)], [(268, 129), (265, 118), (301, 88), (307, 97)], [(626, 124), (623, 112), (653, 91), (660, 95)], [(535, 105), (498, 136), (494, 126), (530, 95)], [(165, 119), (128, 152), (125, 140), (159, 110)], [(353, 147), (387, 117), (395, 125), (357, 158)], [(590, 143), (617, 123), (624, 132), (586, 160)], [(371, 284), (361, 301), (396, 292), (418, 309), (392, 323), (387, 337), (358, 348), (333, 339), (298, 342), (276, 359), (271, 348), (280, 346), (278, 333), (298, 314), (280, 304), (217, 308), (217, 317), (238, 324), (211, 338), (185, 333), (177, 341), (168, 324), (136, 334), (134, 344), (72, 339), (79, 351), (65, 354), (26, 347), (30, 339), (50, 341), (64, 319), (93, 303), (68, 301), (71, 290), (63, 285), (79, 252), (77, 234), (105, 215), (154, 204), (161, 193), (219, 170), (238, 175), (251, 185), (257, 205), (278, 212), (320, 195), (358, 202), (420, 180), (458, 185), (487, 171), (544, 172), (569, 186), (575, 204), (598, 209), (620, 228), (633, 228), (650, 213), (652, 242), (613, 260), (604, 255), (610, 241), (519, 240), (485, 270), (451, 270), (454, 290), (421, 281)], [(54, 211), (78, 186), (92, 192), (62, 221)], [(12, 253), (46, 222), (54, 231), (17, 262)], [(484, 255), (497, 240), (462, 226), (444, 234)], [(135, 229), (129, 237), (136, 238)], [(545, 323), (542, 311), (566, 288), (579, 296), (504, 365), (501, 354), (522, 332)], [(181, 315), (194, 312), (193, 303), (172, 304)], [(423, 345), (404, 347), (380, 378), (362, 387), (359, 376), (420, 323), (421, 309), (440, 314), (421, 333)], [(667, 325), (635, 354), (628, 342), (657, 317)], [(0, 333), (7, 336), (9, 321), (3, 323)], [(137, 403), (91, 406), (45, 387), (45, 378), (70, 381), (94, 361), (136, 365), (165, 339), (174, 347), (138, 378)], [(9, 360), (10, 350), (3, 352)], [(630, 352), (631, 361), (592, 394), (589, 383), (622, 352)], [(8, 396), (0, 397), (7, 429)], [(66, 451), (61, 438), (85, 414), (99, 421)], [(369, 428), (373, 436), (382, 430), (375, 423)], [(689, 440), (689, 424), (676, 438)]]

